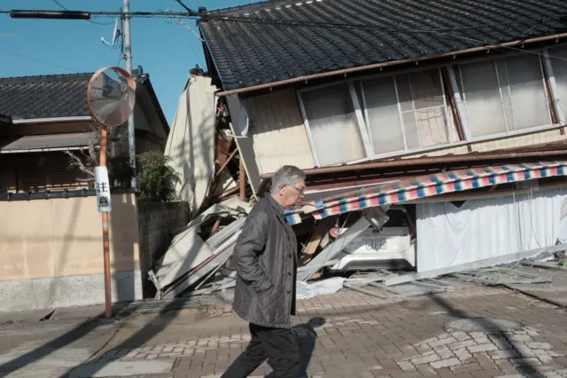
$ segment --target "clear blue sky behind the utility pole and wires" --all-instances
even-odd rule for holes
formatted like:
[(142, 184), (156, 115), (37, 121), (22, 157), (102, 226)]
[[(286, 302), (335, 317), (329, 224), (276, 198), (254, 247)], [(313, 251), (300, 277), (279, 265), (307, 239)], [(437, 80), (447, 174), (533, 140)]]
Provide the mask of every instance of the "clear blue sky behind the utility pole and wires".
[[(195, 10), (198, 6), (216, 9), (253, 2), (183, 1)], [(119, 11), (122, 0), (58, 0), (58, 3), (70, 10)], [(184, 11), (175, 0), (130, 0), (130, 8), (131, 11)], [(53, 0), (2, 0), (0, 9), (60, 8)], [(0, 14), (0, 77), (94, 72), (100, 67), (117, 65), (120, 50), (109, 49), (100, 41), (101, 36), (111, 40), (113, 19), (92, 20), (112, 24), (96, 25), (86, 20), (12, 20), (10, 15)], [(195, 20), (184, 21), (197, 31)], [(206, 67), (201, 42), (175, 20), (167, 23), (161, 18), (136, 18), (131, 22), (131, 32), (134, 67), (142, 66), (150, 74), (171, 125), (190, 68), (196, 64)], [(125, 67), (123, 60), (120, 67)]]

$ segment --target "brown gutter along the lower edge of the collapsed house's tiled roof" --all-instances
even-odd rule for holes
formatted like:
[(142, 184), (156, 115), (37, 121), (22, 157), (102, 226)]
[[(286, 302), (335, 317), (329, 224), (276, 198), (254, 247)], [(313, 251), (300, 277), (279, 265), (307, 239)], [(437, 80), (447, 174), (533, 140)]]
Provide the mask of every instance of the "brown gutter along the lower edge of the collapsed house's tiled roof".
[(440, 58), (454, 57), (456, 55), (463, 55), (463, 54), (469, 54), (469, 53), (480, 52), (480, 51), (490, 51), (490, 50), (499, 49), (499, 48), (502, 48), (502, 47), (506, 48), (506, 47), (513, 47), (513, 46), (518, 46), (518, 45), (523, 46), (524, 44), (528, 44), (528, 43), (546, 42), (546, 41), (551, 41), (551, 40), (554, 40), (554, 39), (558, 40), (560, 38), (565, 38), (565, 37), (567, 37), (567, 33), (561, 33), (561, 34), (556, 34), (556, 35), (541, 36), (541, 37), (537, 37), (537, 38), (516, 40), (516, 41), (512, 41), (512, 42), (507, 42), (507, 43), (491, 44), (491, 45), (483, 46), (483, 47), (473, 47), (473, 48), (465, 49), (465, 50), (461, 50), (461, 51), (444, 52), (442, 54), (435, 54), (435, 55), (430, 55), (430, 56), (427, 56), (427, 57), (417, 58), (417, 59), (401, 59), (401, 60), (394, 60), (394, 61), (391, 61), (391, 62), (371, 64), (371, 65), (361, 66), (361, 67), (345, 68), (345, 69), (339, 69), (337, 71), (325, 72), (325, 73), (322, 73), (322, 74), (294, 77), (292, 79), (286, 79), (286, 80), (282, 80), (282, 81), (274, 82), (274, 83), (254, 85), (252, 87), (240, 88), (240, 89), (237, 89), (237, 90), (221, 91), (221, 92), (218, 92), (216, 95), (219, 96), (219, 97), (222, 97), (222, 96), (229, 96), (229, 95), (237, 94), (237, 93), (245, 93), (245, 92), (250, 92), (250, 91), (260, 91), (260, 90), (270, 89), (270, 88), (273, 88), (273, 87), (282, 86), (282, 85), (291, 84), (291, 83), (307, 82), (309, 80), (321, 79), (323, 77), (353, 74), (353, 73), (357, 73), (357, 72), (368, 71), (370, 69), (399, 66), (399, 65), (407, 64), (407, 63), (418, 63), (420, 61), (425, 61), (425, 60), (434, 60), (434, 59), (440, 59)]

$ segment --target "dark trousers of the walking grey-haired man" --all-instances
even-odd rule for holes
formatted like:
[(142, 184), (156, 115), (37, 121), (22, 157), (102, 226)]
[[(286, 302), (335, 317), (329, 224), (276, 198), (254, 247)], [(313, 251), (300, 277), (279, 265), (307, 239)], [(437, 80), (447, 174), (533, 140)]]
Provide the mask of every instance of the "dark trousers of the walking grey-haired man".
[(221, 378), (245, 378), (268, 358), (276, 378), (298, 378), (299, 343), (291, 329), (250, 325), (252, 340)]

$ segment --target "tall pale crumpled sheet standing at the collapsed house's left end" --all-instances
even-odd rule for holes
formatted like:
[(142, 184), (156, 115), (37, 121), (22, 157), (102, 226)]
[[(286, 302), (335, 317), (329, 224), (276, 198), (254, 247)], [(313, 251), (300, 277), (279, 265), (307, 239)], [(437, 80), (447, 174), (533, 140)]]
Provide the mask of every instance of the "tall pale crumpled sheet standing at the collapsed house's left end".
[(164, 154), (181, 177), (177, 193), (188, 201), (191, 213), (203, 204), (214, 178), (216, 87), (211, 78), (193, 76), (175, 112)]

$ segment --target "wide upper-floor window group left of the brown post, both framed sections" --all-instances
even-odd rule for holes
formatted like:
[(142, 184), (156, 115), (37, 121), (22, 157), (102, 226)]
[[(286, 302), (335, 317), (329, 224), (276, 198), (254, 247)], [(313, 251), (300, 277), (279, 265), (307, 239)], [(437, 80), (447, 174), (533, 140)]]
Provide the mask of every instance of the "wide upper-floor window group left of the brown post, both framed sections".
[(457, 140), (439, 69), (340, 83), (299, 97), (322, 166)]

